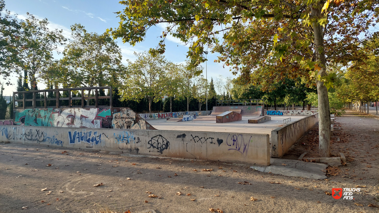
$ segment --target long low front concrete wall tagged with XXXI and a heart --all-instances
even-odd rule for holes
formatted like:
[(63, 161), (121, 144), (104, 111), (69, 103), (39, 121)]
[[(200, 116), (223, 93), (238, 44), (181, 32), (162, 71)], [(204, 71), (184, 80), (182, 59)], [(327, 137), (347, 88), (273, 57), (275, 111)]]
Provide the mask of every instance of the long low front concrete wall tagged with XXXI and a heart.
[(0, 141), (268, 166), (268, 134), (0, 126)]

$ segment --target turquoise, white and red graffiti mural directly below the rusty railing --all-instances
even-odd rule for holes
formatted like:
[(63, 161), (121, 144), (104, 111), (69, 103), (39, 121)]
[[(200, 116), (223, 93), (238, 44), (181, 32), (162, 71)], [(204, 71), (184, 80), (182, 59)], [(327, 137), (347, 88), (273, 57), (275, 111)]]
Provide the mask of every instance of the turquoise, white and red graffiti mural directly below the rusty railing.
[(26, 126), (111, 128), (108, 108), (17, 109), (15, 121)]

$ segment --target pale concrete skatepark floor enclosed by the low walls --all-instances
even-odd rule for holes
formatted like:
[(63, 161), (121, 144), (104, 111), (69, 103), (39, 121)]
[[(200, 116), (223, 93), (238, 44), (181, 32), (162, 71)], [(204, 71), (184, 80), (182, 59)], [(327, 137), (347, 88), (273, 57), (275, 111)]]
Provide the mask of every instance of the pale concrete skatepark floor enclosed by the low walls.
[(305, 116), (270, 116), (271, 121), (260, 124), (249, 124), (247, 120), (258, 116), (242, 116), (242, 121), (216, 123), (216, 116), (197, 116), (193, 121), (172, 122), (166, 119), (148, 120), (150, 125), (158, 130), (186, 130), (205, 132), (235, 132), (260, 133), (271, 135), (274, 130), (283, 125), (283, 119), (291, 118), (291, 122)]

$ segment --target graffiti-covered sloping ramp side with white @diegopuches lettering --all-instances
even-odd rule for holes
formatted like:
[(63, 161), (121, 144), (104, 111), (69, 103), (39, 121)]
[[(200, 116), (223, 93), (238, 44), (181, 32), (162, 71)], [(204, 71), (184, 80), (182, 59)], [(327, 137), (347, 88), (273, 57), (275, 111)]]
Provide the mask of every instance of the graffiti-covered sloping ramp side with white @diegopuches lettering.
[[(118, 110), (117, 110), (118, 111)], [(115, 129), (154, 129), (141, 116), (130, 108), (120, 108), (113, 113), (112, 128)]]

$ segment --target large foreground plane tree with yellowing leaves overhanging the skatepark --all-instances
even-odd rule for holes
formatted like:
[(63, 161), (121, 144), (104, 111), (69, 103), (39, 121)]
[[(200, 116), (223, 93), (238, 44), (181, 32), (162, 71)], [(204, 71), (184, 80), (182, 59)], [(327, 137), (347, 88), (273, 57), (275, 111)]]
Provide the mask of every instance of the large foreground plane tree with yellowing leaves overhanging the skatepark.
[[(241, 40), (241, 25), (264, 20), (275, 23), (275, 34), (266, 44), (267, 60), (286, 60), (315, 79), (319, 103), (319, 154), (330, 156), (327, 88), (333, 86), (333, 76), (326, 72), (327, 58), (341, 63), (351, 60), (359, 37), (377, 21), (378, 16), (374, 17), (378, 12), (376, 1), (130, 0), (120, 3), (125, 5), (125, 9), (117, 12), (120, 25), (109, 29), (114, 38), (134, 45), (144, 40), (152, 26), (164, 23), (167, 27), (162, 39), (150, 52), (164, 53), (167, 36), (174, 36), (190, 44), (191, 66), (204, 62), (204, 51), (219, 44), (220, 40), (237, 45)], [(327, 41), (330, 45), (326, 45)]]

